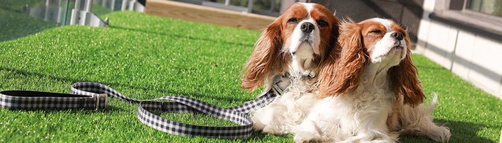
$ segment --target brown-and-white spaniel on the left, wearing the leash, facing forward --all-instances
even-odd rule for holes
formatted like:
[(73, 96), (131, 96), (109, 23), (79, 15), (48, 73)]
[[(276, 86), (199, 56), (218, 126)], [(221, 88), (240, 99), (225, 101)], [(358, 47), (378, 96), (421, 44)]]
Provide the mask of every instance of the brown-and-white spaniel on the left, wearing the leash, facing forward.
[(294, 3), (264, 30), (243, 69), (242, 88), (269, 91), (277, 77), (290, 81), (285, 93), (251, 113), (255, 130), (290, 133), (306, 117), (318, 92), (319, 63), (335, 47), (339, 24), (322, 5)]

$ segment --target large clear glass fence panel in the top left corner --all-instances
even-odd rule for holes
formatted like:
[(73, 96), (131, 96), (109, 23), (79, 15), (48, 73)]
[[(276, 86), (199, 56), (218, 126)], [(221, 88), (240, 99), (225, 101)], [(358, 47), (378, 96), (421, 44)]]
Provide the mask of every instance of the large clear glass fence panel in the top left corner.
[(66, 21), (66, 0), (3, 0), (1, 3), (0, 42), (55, 28)]

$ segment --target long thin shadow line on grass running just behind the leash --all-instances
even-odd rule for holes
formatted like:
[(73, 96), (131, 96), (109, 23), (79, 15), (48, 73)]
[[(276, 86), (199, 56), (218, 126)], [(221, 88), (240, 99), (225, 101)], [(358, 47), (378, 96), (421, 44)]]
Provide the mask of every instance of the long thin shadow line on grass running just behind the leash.
[[(13, 73), (19, 74), (21, 76), (37, 76), (37, 77), (40, 77), (40, 78), (55, 79), (55, 80), (59, 80), (59, 81), (69, 82), (69, 83), (93, 82), (93, 83), (100, 83), (102, 85), (106, 85), (106, 86), (109, 86), (109, 87), (112, 87), (112, 88), (113, 87), (129, 87), (131, 89), (138, 89), (138, 90), (145, 91), (145, 93), (147, 93), (147, 91), (158, 91), (160, 93), (165, 94), (166, 96), (187, 96), (187, 97), (192, 97), (192, 98), (207, 98), (208, 97), (208, 95), (203, 95), (203, 94), (181, 93), (181, 92), (177, 92), (177, 91), (168, 91), (168, 90), (165, 90), (165, 89), (147, 89), (146, 87), (136, 87), (136, 86), (133, 86), (133, 85), (124, 85), (124, 84), (120, 84), (120, 83), (109, 83), (109, 82), (95, 81), (95, 80), (94, 81), (93, 80), (91, 80), (91, 81), (82, 81), (82, 80), (77, 80), (77, 79), (73, 79), (73, 78), (59, 78), (59, 77), (52, 76), (52, 75), (44, 75), (44, 74), (39, 74), (39, 73), (27, 72), (27, 71), (23, 71), (23, 70), (19, 70), (19, 69), (12, 69), (12, 68), (9, 68), (9, 67), (1, 67), (0, 66), (0, 71), (13, 72)], [(12, 76), (12, 77), (15, 77), (15, 76)], [(153, 98), (160, 98), (160, 97), (153, 97)], [(153, 98), (151, 98), (151, 99), (153, 99)], [(216, 100), (221, 100), (221, 101), (225, 101), (225, 102), (232, 102), (232, 101), (243, 101), (243, 102), (245, 102), (244, 100), (239, 100), (238, 98), (230, 98), (230, 97), (210, 96), (209, 98), (216, 99)], [(149, 100), (149, 99), (140, 99), (140, 100)], [(226, 108), (226, 107), (223, 107), (223, 108)]]

